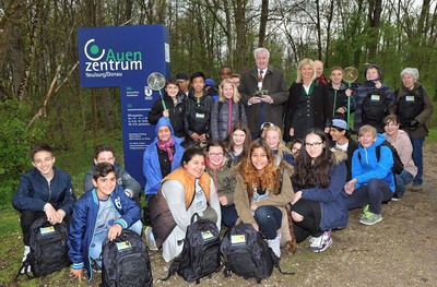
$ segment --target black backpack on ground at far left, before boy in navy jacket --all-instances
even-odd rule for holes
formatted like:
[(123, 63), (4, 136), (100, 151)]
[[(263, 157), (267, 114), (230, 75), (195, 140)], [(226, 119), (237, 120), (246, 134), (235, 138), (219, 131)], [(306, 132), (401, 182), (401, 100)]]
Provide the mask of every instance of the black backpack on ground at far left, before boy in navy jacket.
[(36, 219), (31, 226), (31, 252), (16, 277), (24, 273), (32, 278), (27, 274), (27, 266), (31, 266), (34, 277), (46, 276), (69, 266), (67, 239), (68, 227), (64, 222), (51, 225), (46, 216)]

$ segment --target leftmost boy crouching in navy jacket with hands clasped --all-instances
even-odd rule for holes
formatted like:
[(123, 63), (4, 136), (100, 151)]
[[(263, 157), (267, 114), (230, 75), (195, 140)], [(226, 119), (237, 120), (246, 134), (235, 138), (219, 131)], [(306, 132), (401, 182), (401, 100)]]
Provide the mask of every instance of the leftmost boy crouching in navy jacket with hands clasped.
[(32, 224), (43, 216), (47, 216), (52, 225), (62, 220), (69, 224), (76, 201), (70, 175), (54, 167), (51, 146), (40, 144), (33, 147), (31, 158), (34, 168), (21, 176), (19, 189), (12, 198), (12, 205), (20, 211), (23, 261), (31, 251)]

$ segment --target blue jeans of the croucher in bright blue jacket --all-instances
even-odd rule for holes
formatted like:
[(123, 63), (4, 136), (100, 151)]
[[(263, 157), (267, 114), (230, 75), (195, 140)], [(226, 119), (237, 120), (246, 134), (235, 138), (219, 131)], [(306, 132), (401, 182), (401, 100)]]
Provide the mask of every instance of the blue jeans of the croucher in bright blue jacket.
[(369, 205), (369, 212), (381, 214), (381, 204), (391, 200), (393, 192), (381, 179), (373, 178), (367, 186), (361, 186), (352, 194), (347, 194), (347, 208), (354, 210)]

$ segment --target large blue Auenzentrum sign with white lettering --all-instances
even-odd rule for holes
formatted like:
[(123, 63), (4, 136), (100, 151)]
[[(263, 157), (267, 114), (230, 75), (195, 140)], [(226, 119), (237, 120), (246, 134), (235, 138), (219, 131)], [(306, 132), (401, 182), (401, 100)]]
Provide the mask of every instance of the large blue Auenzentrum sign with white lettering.
[(142, 187), (144, 150), (155, 137), (147, 113), (158, 92), (147, 86), (153, 72), (170, 75), (168, 31), (164, 25), (78, 29), (82, 87), (119, 87), (125, 168)]

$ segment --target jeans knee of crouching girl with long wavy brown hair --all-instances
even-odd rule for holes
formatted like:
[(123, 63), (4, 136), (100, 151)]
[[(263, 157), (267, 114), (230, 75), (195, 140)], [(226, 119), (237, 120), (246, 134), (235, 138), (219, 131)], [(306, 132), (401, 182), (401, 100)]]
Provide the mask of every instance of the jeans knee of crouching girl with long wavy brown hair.
[(282, 212), (277, 207), (271, 205), (259, 206), (255, 211), (253, 217), (262, 235), (265, 235), (268, 239), (276, 238), (277, 229), (281, 228), (282, 224)]

